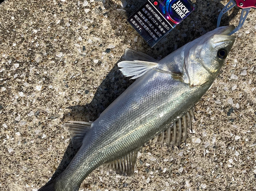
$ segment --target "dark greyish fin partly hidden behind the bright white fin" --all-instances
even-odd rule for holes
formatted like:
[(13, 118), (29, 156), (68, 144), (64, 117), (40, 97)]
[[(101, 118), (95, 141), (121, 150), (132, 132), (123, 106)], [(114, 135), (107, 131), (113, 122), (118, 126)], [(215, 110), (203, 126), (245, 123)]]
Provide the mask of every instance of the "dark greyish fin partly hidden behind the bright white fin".
[(125, 49), (123, 58), (126, 61), (142, 60), (147, 62), (158, 62), (155, 58), (152, 58), (151, 56), (148, 56), (144, 53), (134, 51), (132, 49)]

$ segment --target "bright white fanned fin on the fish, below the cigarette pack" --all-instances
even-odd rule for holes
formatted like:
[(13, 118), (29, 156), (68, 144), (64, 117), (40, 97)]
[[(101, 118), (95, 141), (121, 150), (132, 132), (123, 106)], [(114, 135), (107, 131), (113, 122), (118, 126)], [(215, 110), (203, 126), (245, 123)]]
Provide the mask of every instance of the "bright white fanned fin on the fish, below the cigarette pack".
[(144, 75), (148, 70), (151, 70), (157, 66), (156, 62), (147, 61), (122, 61), (118, 63), (118, 67), (122, 67), (120, 71), (124, 76), (130, 77), (131, 79), (136, 79)]

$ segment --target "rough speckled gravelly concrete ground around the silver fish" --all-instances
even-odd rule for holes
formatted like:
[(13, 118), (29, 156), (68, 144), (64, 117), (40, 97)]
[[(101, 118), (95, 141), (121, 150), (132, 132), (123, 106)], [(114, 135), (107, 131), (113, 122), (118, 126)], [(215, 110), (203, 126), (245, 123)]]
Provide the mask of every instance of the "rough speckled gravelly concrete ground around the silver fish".
[[(61, 125), (94, 121), (133, 82), (117, 67), (126, 47), (163, 58), (215, 29), (227, 3), (193, 0), (195, 11), (151, 49), (126, 21), (144, 2), (0, 5), (0, 190), (36, 191), (65, 169), (75, 151)], [(233, 8), (222, 25), (237, 26), (240, 14)], [(143, 147), (134, 176), (99, 168), (80, 190), (256, 190), (255, 10), (234, 35), (187, 145)]]

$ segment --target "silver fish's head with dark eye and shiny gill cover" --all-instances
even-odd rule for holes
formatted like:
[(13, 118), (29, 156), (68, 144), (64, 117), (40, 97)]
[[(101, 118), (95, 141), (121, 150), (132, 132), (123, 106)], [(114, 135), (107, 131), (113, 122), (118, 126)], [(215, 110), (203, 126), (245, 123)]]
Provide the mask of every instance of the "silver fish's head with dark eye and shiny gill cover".
[(187, 44), (184, 81), (198, 86), (216, 78), (234, 43), (235, 37), (228, 35), (233, 29), (219, 27)]

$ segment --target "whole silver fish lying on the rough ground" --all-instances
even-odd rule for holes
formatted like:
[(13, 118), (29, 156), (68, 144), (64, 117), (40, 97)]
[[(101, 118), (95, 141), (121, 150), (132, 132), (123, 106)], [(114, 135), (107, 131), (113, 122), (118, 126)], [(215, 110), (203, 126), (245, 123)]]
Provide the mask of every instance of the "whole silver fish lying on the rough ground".
[[(131, 176), (139, 149), (154, 140), (180, 147), (191, 128), (193, 108), (216, 79), (230, 52), (234, 26), (220, 27), (161, 60), (126, 49), (118, 63), (136, 81), (94, 122), (63, 125), (79, 148), (67, 168), (39, 191), (77, 191), (103, 165)], [(156, 137), (156, 138), (154, 138)]]

